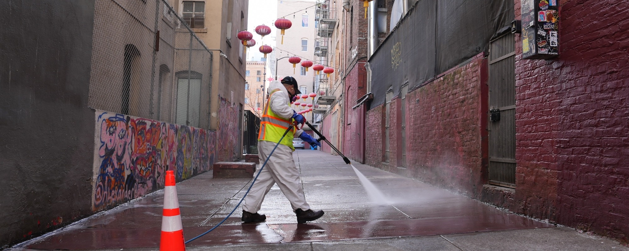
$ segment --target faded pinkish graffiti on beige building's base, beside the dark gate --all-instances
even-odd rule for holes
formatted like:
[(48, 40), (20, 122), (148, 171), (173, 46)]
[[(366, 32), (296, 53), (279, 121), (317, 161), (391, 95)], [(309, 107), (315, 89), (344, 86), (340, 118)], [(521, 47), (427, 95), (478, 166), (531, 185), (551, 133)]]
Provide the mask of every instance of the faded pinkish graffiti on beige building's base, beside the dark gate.
[(218, 131), (218, 161), (235, 161), (240, 158), (242, 149), (240, 149), (241, 134), (238, 123), (238, 107), (231, 107), (231, 102), (227, 99), (220, 98)]

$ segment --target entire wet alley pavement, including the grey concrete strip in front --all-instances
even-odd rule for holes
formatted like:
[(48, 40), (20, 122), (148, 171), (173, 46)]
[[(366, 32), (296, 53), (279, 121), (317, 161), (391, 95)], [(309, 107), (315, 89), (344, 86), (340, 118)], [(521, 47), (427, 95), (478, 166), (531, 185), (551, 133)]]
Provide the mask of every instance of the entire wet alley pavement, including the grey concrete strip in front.
[[(351, 166), (338, 156), (298, 150), (306, 200), (325, 215), (297, 224), (274, 186), (262, 223), (242, 223), (238, 208), (187, 250), (629, 250), (618, 243), (498, 210), (446, 190), (354, 164), (392, 205), (370, 201)], [(250, 179), (213, 179), (211, 171), (177, 183), (186, 240), (223, 220)], [(14, 250), (158, 250), (163, 190), (139, 198)]]

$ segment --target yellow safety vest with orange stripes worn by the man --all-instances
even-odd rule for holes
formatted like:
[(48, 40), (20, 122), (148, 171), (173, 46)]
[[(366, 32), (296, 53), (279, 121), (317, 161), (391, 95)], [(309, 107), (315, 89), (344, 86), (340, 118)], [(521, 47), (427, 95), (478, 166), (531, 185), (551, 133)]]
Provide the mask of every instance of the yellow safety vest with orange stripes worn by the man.
[[(284, 119), (276, 115), (273, 110), (270, 108), (270, 100), (273, 93), (276, 93), (277, 90), (274, 90), (270, 93), (269, 99), (267, 100), (267, 104), (264, 107), (264, 114), (262, 114), (262, 119), (260, 120), (260, 132), (258, 134), (258, 141), (270, 141), (277, 143), (286, 132), (286, 129), (292, 124), (292, 119)], [(290, 101), (289, 101), (289, 104)], [(290, 132), (287, 132), (284, 139), (280, 144), (291, 147), (294, 151), (295, 147), (292, 146), (292, 137), (295, 134), (295, 127), (291, 128)]]

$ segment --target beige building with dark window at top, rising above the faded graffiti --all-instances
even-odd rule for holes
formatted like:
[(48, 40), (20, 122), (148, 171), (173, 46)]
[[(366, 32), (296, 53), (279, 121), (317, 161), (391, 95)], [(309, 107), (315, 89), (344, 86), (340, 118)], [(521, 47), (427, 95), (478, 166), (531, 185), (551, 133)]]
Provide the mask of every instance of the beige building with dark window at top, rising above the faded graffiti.
[(221, 100), (241, 113), (244, 107), (246, 50), (237, 33), (247, 29), (248, 3), (248, 0), (177, 0), (176, 4), (171, 3), (196, 36), (209, 50), (215, 51), (211, 65), (210, 129), (218, 128)]

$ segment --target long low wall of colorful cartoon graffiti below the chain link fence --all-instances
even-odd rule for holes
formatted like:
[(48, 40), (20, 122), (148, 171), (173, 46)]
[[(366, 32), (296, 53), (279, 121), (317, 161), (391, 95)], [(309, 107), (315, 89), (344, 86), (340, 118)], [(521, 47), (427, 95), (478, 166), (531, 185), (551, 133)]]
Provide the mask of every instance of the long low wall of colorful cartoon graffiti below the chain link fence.
[(216, 132), (96, 110), (93, 208), (98, 210), (208, 171)]

